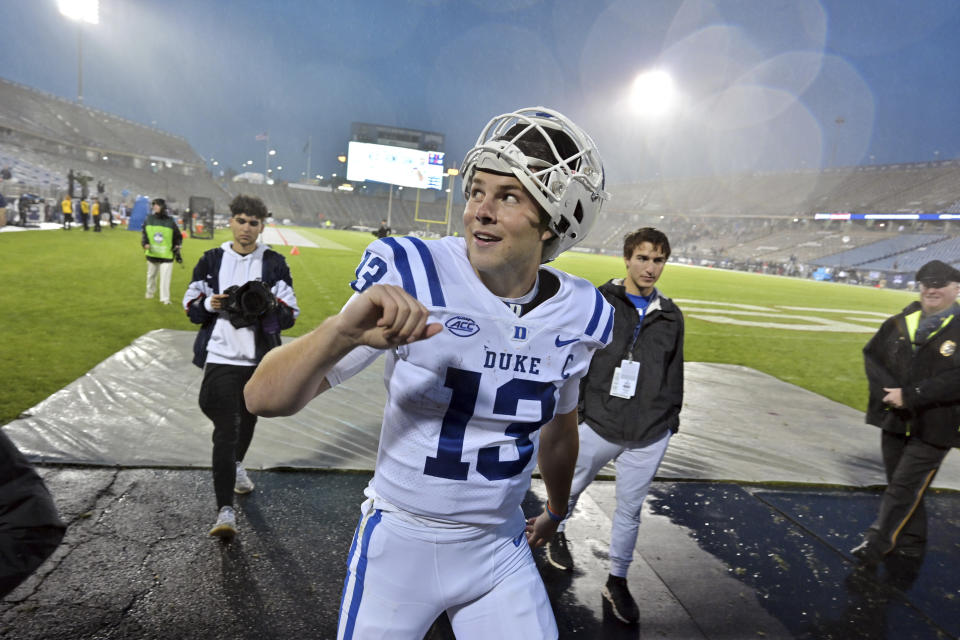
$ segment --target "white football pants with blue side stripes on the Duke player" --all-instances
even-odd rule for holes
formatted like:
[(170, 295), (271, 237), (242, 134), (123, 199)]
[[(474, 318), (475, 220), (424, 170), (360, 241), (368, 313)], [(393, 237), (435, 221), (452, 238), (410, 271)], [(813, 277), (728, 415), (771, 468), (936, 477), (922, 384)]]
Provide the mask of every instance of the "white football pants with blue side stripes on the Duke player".
[(444, 610), (457, 640), (557, 637), (517, 519), (462, 540), (374, 509), (372, 499), (362, 510), (347, 557), (339, 640), (422, 640)]

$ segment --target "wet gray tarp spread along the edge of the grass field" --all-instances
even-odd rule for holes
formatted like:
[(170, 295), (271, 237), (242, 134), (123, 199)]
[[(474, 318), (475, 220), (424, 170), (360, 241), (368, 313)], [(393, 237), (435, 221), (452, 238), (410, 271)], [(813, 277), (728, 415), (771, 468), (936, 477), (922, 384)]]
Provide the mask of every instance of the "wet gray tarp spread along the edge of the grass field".
[[(151, 331), (4, 427), (31, 459), (93, 465), (210, 465), (197, 407), (194, 334)], [(383, 359), (289, 418), (262, 418), (251, 468), (372, 470)], [(884, 484), (880, 437), (863, 415), (746, 367), (688, 362), (681, 430), (659, 478)], [(935, 486), (960, 490), (960, 458)]]

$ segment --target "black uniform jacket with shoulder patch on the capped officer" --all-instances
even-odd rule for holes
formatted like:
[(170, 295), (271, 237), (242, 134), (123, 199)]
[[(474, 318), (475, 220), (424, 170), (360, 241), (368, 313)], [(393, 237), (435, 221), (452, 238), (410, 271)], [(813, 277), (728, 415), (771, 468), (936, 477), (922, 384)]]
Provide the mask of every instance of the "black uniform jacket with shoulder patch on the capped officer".
[[(867, 423), (939, 447), (960, 446), (960, 308), (954, 309), (957, 315), (916, 350), (908, 319), (920, 313), (919, 302), (887, 318), (863, 348)], [(884, 387), (903, 390), (903, 409), (883, 403)]]

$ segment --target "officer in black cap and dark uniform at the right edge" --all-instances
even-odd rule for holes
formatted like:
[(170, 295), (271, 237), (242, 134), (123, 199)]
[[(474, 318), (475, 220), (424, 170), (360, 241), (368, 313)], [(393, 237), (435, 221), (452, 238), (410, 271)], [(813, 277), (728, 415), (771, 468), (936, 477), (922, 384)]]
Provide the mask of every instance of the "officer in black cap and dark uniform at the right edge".
[(850, 552), (876, 564), (923, 556), (923, 495), (951, 447), (960, 446), (960, 271), (932, 260), (917, 271), (920, 300), (887, 318), (863, 348), (867, 422), (880, 427), (887, 488), (880, 513)]

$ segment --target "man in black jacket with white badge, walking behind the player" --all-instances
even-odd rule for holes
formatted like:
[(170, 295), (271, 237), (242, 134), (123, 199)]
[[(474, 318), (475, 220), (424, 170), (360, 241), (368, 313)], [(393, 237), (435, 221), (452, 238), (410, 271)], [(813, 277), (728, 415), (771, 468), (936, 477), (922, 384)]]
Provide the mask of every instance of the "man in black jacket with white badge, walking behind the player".
[[(670, 242), (657, 229), (645, 227), (624, 238), (626, 277), (600, 287), (615, 309), (613, 338), (593, 356), (580, 384), (580, 453), (567, 517), (597, 472), (616, 460), (617, 508), (603, 597), (617, 618), (630, 624), (640, 617), (626, 581), (640, 511), (679, 428), (683, 404), (683, 314), (654, 286), (669, 257)], [(547, 559), (570, 570), (565, 524), (548, 543)]]

